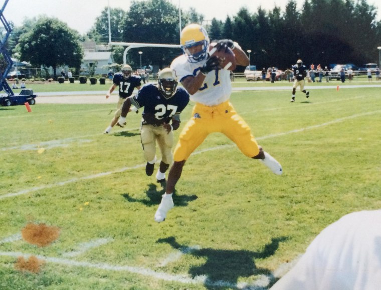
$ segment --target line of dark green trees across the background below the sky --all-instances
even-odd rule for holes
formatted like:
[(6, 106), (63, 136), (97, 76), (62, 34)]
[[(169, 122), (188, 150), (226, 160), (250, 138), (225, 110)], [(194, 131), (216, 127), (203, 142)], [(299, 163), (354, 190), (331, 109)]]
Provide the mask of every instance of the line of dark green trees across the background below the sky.
[[(245, 50), (251, 50), (251, 63), (257, 67), (276, 66), (286, 69), (302, 59), (305, 64), (377, 63), (381, 46), (381, 22), (376, 9), (366, 0), (305, 0), (298, 10), (289, 0), (285, 11), (261, 7), (251, 14), (241, 8), (225, 21), (205, 21), (195, 9), (181, 11), (182, 27), (199, 23), (206, 27), (211, 40), (233, 39)], [(167, 0), (132, 2), (128, 11), (110, 9), (112, 41), (178, 44), (178, 9)], [(78, 67), (83, 58), (80, 41), (108, 43), (108, 8), (96, 18), (85, 36), (71, 30), (57, 19), (41, 17), (26, 20), (14, 28), (9, 49), (19, 53), (33, 66), (68, 65)], [(113, 56), (122, 63), (124, 48), (113, 47)], [(179, 49), (139, 48), (144, 65), (167, 66), (181, 54)], [(127, 62), (138, 67), (140, 56), (130, 50)], [(238, 71), (243, 68), (237, 69)]]

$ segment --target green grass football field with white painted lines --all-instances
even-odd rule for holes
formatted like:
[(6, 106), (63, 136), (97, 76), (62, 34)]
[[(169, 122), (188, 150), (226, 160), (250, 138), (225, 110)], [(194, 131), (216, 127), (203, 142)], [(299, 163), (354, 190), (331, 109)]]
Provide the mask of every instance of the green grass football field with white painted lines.
[[(140, 114), (104, 135), (115, 104), (0, 107), (0, 289), (268, 289), (327, 225), (381, 208), (381, 88), (310, 87), (295, 103), (291, 86), (234, 92), (283, 175), (210, 135), (162, 223)], [(23, 238), (28, 224), (59, 236), (36, 246)], [(16, 266), (32, 256), (38, 271)]]

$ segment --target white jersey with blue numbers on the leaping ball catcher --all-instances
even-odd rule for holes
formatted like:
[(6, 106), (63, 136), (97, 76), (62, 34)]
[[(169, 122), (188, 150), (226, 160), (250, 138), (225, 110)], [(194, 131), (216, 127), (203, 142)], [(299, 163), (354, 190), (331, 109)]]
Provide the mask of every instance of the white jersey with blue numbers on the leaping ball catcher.
[[(185, 55), (175, 58), (170, 65), (174, 71), (176, 79), (181, 82), (187, 76), (197, 76), (200, 68), (204, 66), (207, 60), (198, 63), (190, 63)], [(232, 93), (232, 84), (230, 81), (230, 71), (213, 70), (206, 76), (204, 85), (195, 93), (190, 95), (190, 100), (201, 103), (205, 106), (216, 106), (229, 100)]]

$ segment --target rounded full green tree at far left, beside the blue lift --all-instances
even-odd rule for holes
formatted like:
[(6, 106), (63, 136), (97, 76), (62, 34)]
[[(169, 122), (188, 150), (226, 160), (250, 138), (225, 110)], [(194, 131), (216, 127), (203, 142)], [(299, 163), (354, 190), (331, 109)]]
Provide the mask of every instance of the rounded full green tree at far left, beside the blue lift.
[(83, 59), (78, 33), (55, 18), (41, 18), (31, 31), (21, 35), (16, 50), (22, 60), (35, 67), (52, 67), (54, 77), (57, 67), (79, 68)]

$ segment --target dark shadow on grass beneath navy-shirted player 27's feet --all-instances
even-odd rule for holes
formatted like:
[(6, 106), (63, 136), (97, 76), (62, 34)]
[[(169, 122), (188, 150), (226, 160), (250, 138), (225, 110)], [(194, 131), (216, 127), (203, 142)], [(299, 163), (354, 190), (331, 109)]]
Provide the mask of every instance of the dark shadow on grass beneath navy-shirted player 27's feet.
[[(146, 206), (157, 206), (158, 204), (160, 204), (161, 195), (165, 193), (165, 182), (161, 183), (160, 187), (161, 189), (158, 188), (157, 184), (149, 184), (148, 189), (145, 191), (145, 194), (147, 195), (148, 199), (133, 198), (130, 197), (128, 193), (124, 193), (122, 194), (122, 196), (128, 202), (140, 202)], [(197, 199), (197, 195), (177, 195), (176, 191), (174, 191), (172, 194), (172, 199), (174, 206), (187, 206), (190, 201), (194, 201)]]

